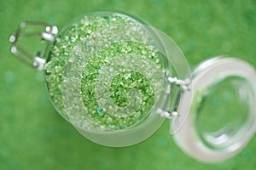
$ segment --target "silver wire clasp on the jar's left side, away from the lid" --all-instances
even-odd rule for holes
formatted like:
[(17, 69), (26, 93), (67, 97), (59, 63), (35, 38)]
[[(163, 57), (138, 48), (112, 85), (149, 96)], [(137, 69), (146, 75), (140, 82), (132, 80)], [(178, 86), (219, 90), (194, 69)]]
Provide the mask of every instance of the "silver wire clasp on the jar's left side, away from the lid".
[[(44, 28), (43, 31), (24, 31), (29, 26), (40, 26)], [(49, 46), (51, 42), (55, 40), (55, 36), (58, 34), (58, 28), (56, 26), (49, 25), (45, 22), (26, 21), (21, 22), (15, 34), (9, 37), (9, 42), (12, 43), (11, 53), (15, 55), (24, 64), (36, 68), (38, 70), (44, 69), (47, 54), (49, 52)], [(44, 49), (38, 49), (36, 54), (27, 52), (26, 44), (18, 44), (20, 37), (41, 37), (41, 44), (46, 42)]]

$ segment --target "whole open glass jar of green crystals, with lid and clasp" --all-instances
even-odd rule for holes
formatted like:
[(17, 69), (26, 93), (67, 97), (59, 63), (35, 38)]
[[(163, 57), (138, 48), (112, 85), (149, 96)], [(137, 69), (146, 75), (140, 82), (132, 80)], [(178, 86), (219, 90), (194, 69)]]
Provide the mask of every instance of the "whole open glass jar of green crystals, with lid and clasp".
[[(43, 49), (30, 54), (22, 39), (38, 35)], [(44, 22), (22, 22), (10, 42), (17, 58), (44, 71), (61, 116), (97, 144), (137, 144), (167, 118), (186, 153), (217, 162), (236, 155), (253, 137), (251, 65), (216, 57), (191, 73), (170, 37), (129, 15), (86, 14), (60, 33)]]

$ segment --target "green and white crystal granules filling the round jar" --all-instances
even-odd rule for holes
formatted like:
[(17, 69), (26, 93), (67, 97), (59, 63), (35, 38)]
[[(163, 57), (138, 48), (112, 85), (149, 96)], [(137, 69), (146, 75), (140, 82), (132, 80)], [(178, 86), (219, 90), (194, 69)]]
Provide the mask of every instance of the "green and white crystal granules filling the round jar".
[(90, 14), (49, 51), (45, 79), (56, 109), (87, 130), (121, 130), (150, 115), (163, 68), (154, 33), (123, 14)]

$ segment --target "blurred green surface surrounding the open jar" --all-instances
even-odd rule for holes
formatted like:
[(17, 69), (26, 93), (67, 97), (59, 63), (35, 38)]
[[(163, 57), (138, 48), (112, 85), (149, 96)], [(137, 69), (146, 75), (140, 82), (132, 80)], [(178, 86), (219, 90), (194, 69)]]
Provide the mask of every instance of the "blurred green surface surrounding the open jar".
[(238, 156), (208, 165), (174, 144), (167, 121), (143, 143), (108, 148), (84, 139), (58, 115), (43, 73), (9, 53), (9, 35), (23, 20), (48, 21), (61, 28), (76, 16), (101, 9), (132, 14), (166, 32), (192, 68), (218, 54), (256, 67), (254, 0), (1, 0), (0, 169), (256, 169), (256, 138)]

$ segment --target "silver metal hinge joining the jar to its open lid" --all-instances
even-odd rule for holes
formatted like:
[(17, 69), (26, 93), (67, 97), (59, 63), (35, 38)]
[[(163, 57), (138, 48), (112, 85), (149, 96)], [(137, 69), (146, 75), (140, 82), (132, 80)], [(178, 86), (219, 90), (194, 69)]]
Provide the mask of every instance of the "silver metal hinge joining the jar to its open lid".
[[(174, 119), (178, 116), (177, 108), (179, 105), (180, 98), (184, 91), (189, 90), (189, 82), (190, 81), (189, 81), (189, 79), (185, 80), (185, 81), (179, 80), (179, 79), (177, 79), (177, 77), (166, 77), (166, 79), (167, 79), (167, 82), (170, 82), (170, 87), (167, 87), (170, 89), (168, 91), (166, 91), (166, 93), (167, 93), (166, 103), (164, 104), (163, 109), (161, 109), (161, 108), (158, 109), (156, 111), (156, 113), (159, 114), (160, 116), (166, 117), (168, 119)], [(174, 91), (174, 86), (177, 86), (179, 88), (179, 90), (175, 96), (172, 110), (168, 111), (170, 103), (171, 103), (173, 91)]]

